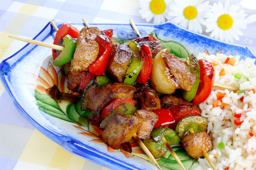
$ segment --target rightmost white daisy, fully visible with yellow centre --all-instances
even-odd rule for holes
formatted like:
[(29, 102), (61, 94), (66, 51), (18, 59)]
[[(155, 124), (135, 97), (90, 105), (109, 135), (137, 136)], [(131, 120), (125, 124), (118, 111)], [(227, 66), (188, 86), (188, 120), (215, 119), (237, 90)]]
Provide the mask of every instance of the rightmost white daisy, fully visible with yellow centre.
[(225, 6), (221, 2), (214, 3), (210, 8), (211, 14), (206, 19), (205, 32), (212, 32), (210, 37), (222, 41), (239, 40), (239, 35), (243, 35), (240, 29), (246, 29), (247, 22), (245, 12), (238, 10), (239, 6), (230, 5), (229, 1), (226, 1)]

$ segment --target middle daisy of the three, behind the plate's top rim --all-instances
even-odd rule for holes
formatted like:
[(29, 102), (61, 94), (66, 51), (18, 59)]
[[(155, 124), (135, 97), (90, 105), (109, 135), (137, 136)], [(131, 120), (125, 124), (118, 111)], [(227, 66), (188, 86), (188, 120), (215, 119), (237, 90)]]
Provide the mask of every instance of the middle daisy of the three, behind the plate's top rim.
[[(172, 22), (181, 27), (202, 33), (202, 25), (205, 25), (205, 16), (210, 9), (209, 1), (204, 0), (174, 0), (170, 6), (171, 12), (168, 14), (173, 17)], [(202, 24), (202, 25), (201, 25)]]

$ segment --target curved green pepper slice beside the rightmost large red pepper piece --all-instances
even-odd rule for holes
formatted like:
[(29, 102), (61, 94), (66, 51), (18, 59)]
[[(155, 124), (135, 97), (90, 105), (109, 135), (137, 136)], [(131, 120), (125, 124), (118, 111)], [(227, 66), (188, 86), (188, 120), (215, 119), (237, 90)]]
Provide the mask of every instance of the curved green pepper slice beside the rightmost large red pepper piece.
[(192, 86), (191, 91), (183, 91), (182, 96), (186, 101), (191, 101), (195, 96), (197, 92), (197, 88), (199, 87), (200, 83), (200, 66), (197, 57), (194, 54), (191, 54), (188, 56), (188, 64), (191, 70), (191, 73), (196, 75), (196, 81)]

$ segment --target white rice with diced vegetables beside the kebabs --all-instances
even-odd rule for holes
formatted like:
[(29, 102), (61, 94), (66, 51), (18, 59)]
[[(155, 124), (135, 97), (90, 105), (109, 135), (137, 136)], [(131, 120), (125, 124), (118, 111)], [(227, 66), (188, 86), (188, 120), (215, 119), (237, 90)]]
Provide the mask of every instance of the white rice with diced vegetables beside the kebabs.
[[(255, 169), (256, 168), (256, 94), (251, 89), (256, 90), (256, 66), (255, 59), (246, 58), (240, 61), (240, 56), (234, 57), (234, 66), (224, 64), (226, 58), (224, 54), (207, 55), (199, 54), (199, 59), (204, 58), (210, 62), (218, 63), (214, 66), (216, 73), (215, 82), (234, 86), (245, 90), (245, 94), (237, 94), (230, 90), (220, 90), (213, 87), (213, 91), (204, 103), (199, 107), (202, 109), (202, 116), (208, 117), (208, 133), (213, 140), (213, 149), (208, 152), (210, 159), (217, 169)], [(233, 56), (229, 56), (232, 58)], [(220, 76), (220, 70), (225, 69), (225, 74)], [(234, 77), (234, 74), (242, 75), (241, 79)], [(247, 80), (249, 78), (249, 81)], [(213, 107), (213, 102), (217, 101), (217, 92), (225, 92), (222, 99), (226, 107), (218, 103), (218, 107)], [(243, 97), (243, 101), (240, 98)], [(240, 114), (241, 125), (235, 125), (234, 113)], [(224, 148), (219, 149), (218, 143), (224, 143)], [(204, 169), (211, 169), (206, 159), (199, 159), (199, 163)]]

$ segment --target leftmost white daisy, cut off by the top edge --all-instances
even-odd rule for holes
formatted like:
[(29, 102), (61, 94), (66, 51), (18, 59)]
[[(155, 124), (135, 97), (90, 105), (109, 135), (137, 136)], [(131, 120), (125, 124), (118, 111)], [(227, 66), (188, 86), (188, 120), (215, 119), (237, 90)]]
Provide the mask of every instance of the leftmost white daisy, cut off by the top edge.
[(171, 17), (168, 15), (170, 9), (171, 0), (141, 0), (139, 1), (139, 14), (142, 15), (142, 18), (147, 22), (150, 22), (154, 18), (154, 23), (162, 23), (165, 20), (170, 20)]

